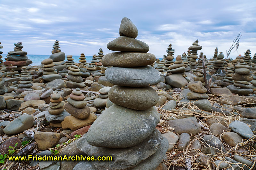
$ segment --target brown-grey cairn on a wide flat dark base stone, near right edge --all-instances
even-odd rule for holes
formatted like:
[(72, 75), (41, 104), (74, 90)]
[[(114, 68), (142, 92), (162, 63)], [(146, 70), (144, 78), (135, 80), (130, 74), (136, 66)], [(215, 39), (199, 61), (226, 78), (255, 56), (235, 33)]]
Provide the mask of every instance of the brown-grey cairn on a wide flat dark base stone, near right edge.
[(235, 94), (246, 96), (253, 92), (250, 89), (249, 81), (252, 81), (252, 74), (250, 74), (250, 66), (244, 62), (243, 59), (240, 59), (236, 64), (235, 73), (233, 74), (232, 79), (234, 80), (233, 85), (227, 86), (227, 88)]

